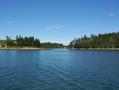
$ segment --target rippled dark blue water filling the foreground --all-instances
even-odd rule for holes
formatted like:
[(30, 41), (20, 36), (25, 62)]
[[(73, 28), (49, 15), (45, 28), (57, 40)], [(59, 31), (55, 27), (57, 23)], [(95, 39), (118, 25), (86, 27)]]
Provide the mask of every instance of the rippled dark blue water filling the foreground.
[(119, 52), (1, 50), (0, 90), (119, 90)]

